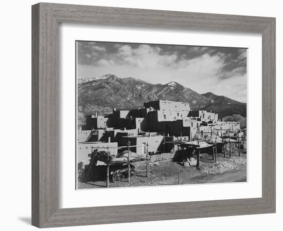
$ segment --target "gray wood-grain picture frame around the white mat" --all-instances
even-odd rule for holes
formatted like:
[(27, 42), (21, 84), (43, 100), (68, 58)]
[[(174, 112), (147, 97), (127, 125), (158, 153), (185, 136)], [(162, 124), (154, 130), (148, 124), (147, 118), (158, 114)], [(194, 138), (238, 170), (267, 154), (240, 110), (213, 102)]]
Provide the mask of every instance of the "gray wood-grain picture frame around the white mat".
[[(262, 35), (262, 197), (58, 208), (59, 23)], [(32, 225), (91, 225), (275, 213), (275, 18), (39, 3), (32, 6)]]

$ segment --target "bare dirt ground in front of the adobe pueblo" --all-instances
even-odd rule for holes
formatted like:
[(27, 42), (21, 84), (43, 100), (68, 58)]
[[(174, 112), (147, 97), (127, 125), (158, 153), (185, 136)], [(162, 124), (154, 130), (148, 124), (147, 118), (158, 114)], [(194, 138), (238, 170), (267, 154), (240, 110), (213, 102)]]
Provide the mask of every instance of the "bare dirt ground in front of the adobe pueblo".
[[(228, 156), (228, 155), (227, 155)], [(237, 156), (237, 155), (235, 155)], [(246, 158), (244, 153), (241, 156)], [(222, 153), (218, 153), (217, 162), (224, 161)], [(214, 163), (211, 156), (202, 154), (200, 166), (207, 166)], [(104, 169), (102, 169), (104, 171)], [(110, 187), (135, 187), (135, 186), (155, 186), (155, 185), (174, 185), (179, 184), (204, 184), (204, 183), (228, 183), (228, 182), (246, 182), (246, 165), (239, 167), (239, 169), (227, 171), (223, 174), (206, 174), (201, 172), (198, 167), (183, 166), (182, 163), (168, 161), (159, 161), (150, 163), (150, 177), (146, 177), (146, 164), (136, 166), (136, 176), (122, 179), (119, 182), (110, 182)], [(106, 169), (105, 169), (106, 172)], [(104, 175), (104, 172), (102, 172)], [(106, 174), (105, 174), (106, 176)], [(78, 189), (85, 188), (103, 188), (106, 187), (106, 179), (78, 182)]]

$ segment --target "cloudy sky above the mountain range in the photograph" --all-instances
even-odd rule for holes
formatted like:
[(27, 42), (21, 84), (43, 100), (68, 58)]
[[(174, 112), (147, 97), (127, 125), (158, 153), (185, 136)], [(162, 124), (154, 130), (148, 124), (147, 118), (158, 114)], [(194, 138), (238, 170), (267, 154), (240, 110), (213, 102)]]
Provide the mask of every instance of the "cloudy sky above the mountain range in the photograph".
[(77, 75), (174, 81), (246, 102), (246, 53), (245, 48), (78, 41)]

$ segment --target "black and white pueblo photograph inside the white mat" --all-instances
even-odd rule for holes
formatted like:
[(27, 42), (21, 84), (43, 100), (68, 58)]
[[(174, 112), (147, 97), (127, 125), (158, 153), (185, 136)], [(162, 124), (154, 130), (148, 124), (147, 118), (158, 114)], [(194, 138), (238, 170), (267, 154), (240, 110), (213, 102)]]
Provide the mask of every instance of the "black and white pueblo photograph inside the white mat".
[(246, 182), (247, 52), (76, 41), (77, 189)]

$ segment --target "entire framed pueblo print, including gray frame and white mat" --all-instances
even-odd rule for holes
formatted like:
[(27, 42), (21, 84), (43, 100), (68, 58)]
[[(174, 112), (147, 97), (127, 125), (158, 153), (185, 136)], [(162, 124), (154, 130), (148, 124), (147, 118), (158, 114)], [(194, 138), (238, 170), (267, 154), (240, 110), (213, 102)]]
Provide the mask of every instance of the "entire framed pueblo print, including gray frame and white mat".
[(32, 108), (35, 226), (275, 212), (274, 18), (34, 5)]

